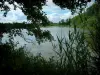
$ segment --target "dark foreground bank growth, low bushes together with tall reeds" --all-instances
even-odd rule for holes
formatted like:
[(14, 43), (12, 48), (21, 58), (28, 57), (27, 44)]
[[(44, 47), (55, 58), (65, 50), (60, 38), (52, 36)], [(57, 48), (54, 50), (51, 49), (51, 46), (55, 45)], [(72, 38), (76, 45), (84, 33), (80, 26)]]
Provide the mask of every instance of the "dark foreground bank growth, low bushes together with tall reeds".
[(91, 53), (82, 33), (70, 32), (69, 41), (58, 37), (57, 59), (31, 55), (25, 48), (0, 45), (0, 74), (9, 75), (94, 75)]

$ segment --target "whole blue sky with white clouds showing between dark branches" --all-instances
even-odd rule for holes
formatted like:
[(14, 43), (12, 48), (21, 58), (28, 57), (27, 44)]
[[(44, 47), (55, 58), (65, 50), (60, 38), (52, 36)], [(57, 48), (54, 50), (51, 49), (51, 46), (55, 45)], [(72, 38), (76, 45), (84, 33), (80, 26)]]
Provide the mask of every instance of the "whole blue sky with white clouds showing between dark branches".
[[(93, 1), (88, 4), (88, 7), (93, 4)], [(3, 17), (3, 12), (0, 12), (0, 22), (23, 22), (27, 21), (27, 17), (22, 13), (20, 9), (13, 10), (13, 6), (9, 5), (11, 11), (8, 12), (7, 17)], [(55, 5), (52, 0), (47, 0), (46, 6), (43, 6), (43, 11), (47, 14), (50, 21), (57, 23), (61, 19), (72, 18), (75, 15), (71, 15), (71, 11), (68, 9), (61, 9)]]

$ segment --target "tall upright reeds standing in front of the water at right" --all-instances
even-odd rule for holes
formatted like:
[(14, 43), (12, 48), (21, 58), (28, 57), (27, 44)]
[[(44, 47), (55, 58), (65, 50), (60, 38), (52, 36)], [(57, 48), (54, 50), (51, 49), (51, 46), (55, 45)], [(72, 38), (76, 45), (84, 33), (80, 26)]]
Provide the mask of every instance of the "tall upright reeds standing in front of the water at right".
[(69, 39), (58, 37), (58, 55), (60, 68), (64, 75), (92, 75), (93, 63), (91, 50), (85, 40), (84, 31), (69, 31)]

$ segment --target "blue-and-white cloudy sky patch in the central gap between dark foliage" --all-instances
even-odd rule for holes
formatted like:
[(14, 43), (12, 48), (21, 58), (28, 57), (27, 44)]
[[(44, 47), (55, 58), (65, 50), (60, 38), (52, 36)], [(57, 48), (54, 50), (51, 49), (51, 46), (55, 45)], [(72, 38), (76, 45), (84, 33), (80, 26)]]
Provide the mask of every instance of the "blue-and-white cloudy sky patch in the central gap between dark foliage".
[(43, 6), (43, 11), (52, 22), (59, 22), (61, 19), (67, 19), (71, 16), (71, 12), (66, 9), (62, 10), (59, 6), (55, 5), (52, 0), (47, 1), (47, 5)]

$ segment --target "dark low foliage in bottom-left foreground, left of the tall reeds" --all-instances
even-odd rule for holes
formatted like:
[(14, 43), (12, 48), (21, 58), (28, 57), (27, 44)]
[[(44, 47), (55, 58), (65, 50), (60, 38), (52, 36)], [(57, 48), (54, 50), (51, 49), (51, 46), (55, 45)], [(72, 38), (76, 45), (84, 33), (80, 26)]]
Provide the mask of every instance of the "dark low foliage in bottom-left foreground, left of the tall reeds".
[(55, 75), (55, 63), (46, 61), (41, 55), (33, 56), (24, 48), (0, 45), (0, 75)]

